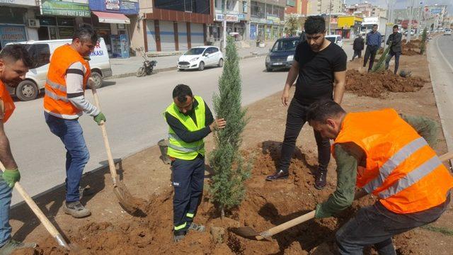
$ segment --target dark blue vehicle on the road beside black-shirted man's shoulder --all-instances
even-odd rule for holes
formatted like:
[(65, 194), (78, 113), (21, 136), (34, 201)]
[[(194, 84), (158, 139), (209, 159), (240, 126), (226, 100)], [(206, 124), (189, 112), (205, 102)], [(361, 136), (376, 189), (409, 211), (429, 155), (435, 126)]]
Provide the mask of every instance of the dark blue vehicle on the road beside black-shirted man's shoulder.
[(266, 56), (266, 71), (272, 72), (275, 68), (291, 67), (298, 44), (299, 37), (280, 38), (275, 41), (268, 56)]

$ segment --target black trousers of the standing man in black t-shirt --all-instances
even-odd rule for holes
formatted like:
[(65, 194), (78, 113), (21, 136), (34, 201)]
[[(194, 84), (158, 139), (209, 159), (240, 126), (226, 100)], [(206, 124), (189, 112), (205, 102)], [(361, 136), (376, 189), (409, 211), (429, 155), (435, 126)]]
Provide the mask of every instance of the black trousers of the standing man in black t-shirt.
[[(280, 170), (287, 172), (297, 137), (299, 137), (302, 126), (306, 123), (306, 112), (309, 106), (304, 106), (297, 99), (292, 99), (289, 104), (286, 117), (285, 138), (282, 145), (280, 158)], [(318, 146), (319, 170), (327, 171), (328, 162), (331, 160), (331, 142), (327, 138), (321, 137), (319, 132), (314, 131), (316, 145)]]

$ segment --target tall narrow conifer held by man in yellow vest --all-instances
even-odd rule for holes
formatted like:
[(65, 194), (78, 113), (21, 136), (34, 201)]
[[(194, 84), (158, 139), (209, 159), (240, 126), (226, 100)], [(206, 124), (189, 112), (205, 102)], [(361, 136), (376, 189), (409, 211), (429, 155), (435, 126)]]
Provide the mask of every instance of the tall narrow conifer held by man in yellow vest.
[(239, 152), (241, 134), (247, 120), (246, 110), (241, 108), (239, 55), (231, 36), (226, 43), (219, 94), (214, 94), (213, 101), (217, 117), (226, 120), (226, 127), (214, 133), (215, 149), (210, 155), (210, 165), (214, 171), (210, 192), (223, 219), (225, 210), (241, 204), (246, 193), (243, 182), (250, 176), (251, 169), (251, 164), (246, 164)]

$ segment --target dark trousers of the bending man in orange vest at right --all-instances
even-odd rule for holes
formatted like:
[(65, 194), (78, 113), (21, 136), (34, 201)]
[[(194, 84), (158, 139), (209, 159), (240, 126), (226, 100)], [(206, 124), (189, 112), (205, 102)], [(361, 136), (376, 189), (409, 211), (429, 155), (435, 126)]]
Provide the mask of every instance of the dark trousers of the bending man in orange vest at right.
[(379, 202), (362, 208), (355, 217), (338, 229), (338, 251), (342, 255), (362, 255), (365, 246), (374, 245), (380, 255), (395, 255), (391, 237), (434, 222), (447, 210), (448, 204), (449, 196), (441, 205), (408, 214), (391, 212)]

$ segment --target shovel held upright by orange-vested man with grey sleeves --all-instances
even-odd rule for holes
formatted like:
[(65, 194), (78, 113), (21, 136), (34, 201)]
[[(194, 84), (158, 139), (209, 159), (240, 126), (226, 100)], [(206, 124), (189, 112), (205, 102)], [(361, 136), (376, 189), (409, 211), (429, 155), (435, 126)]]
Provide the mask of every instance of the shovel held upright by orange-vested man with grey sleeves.
[[(93, 80), (90, 78), (91, 81), (91, 89), (93, 91), (93, 96), (94, 96), (94, 102), (96, 104), (96, 107), (101, 111), (101, 106), (99, 103), (99, 98), (98, 94), (96, 92), (96, 88), (93, 85)], [(104, 139), (104, 145), (105, 145), (105, 150), (107, 152), (107, 157), (108, 157), (108, 166), (110, 169), (110, 176), (112, 176), (112, 182), (113, 182), (113, 193), (115, 193), (115, 196), (117, 197), (120, 205), (122, 205), (127, 212), (130, 212), (131, 214), (135, 214), (139, 212), (140, 207), (142, 205), (142, 200), (139, 200), (138, 198), (134, 198), (132, 194), (129, 192), (127, 187), (117, 181), (117, 174), (116, 174), (116, 168), (115, 168), (115, 162), (113, 162), (113, 157), (112, 157), (112, 150), (110, 149), (110, 143), (108, 142), (108, 136), (107, 136), (107, 130), (105, 129), (105, 123), (101, 122), (101, 130), (102, 130), (102, 136)]]

